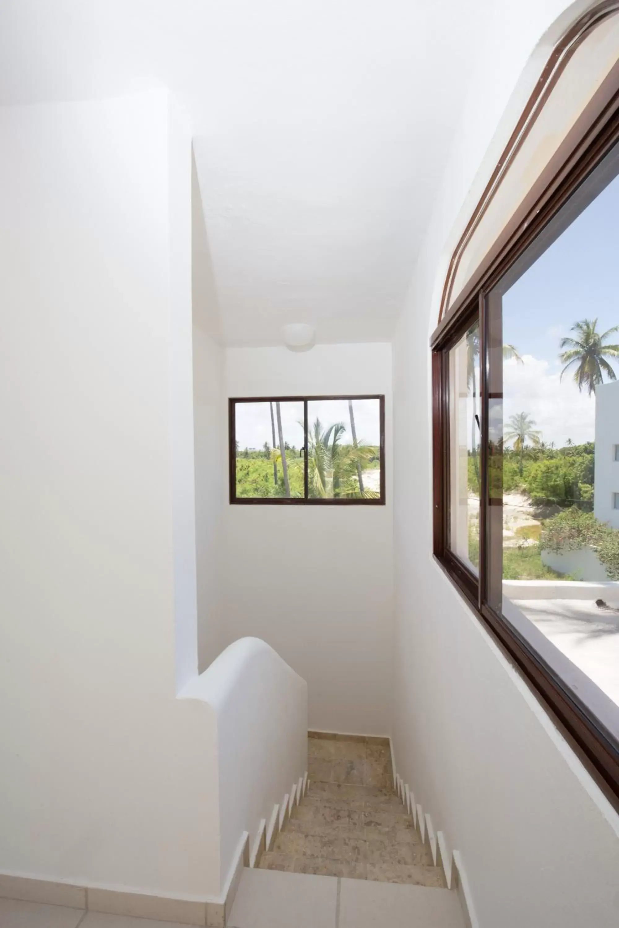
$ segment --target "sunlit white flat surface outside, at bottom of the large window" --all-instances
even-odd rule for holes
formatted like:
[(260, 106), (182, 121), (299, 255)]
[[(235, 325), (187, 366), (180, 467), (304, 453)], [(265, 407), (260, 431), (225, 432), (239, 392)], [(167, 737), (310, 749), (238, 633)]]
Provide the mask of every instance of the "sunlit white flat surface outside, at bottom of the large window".
[(514, 605), (619, 705), (619, 610), (577, 599), (514, 599)]

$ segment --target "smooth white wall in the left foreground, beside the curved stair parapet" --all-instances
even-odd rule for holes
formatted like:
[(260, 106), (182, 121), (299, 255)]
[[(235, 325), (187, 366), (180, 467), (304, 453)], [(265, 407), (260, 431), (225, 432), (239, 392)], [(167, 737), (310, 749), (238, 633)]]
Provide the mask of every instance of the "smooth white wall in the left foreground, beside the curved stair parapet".
[(0, 110), (0, 872), (204, 898), (190, 158), (164, 93)]

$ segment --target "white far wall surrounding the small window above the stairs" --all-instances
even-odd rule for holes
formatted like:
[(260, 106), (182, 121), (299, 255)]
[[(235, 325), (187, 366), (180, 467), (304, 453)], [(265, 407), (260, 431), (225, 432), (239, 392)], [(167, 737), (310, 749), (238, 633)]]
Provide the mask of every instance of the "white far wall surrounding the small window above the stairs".
[(307, 680), (310, 728), (389, 730), (391, 392), (389, 344), (226, 351), (227, 396), (385, 393), (386, 506), (226, 506), (226, 640), (264, 638)]

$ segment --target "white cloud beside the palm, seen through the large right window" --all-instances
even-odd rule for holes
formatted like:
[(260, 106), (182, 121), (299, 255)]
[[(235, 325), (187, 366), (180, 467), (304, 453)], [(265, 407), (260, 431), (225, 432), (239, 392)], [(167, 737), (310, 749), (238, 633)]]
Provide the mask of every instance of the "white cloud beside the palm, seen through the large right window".
[(571, 438), (575, 445), (595, 439), (595, 397), (579, 393), (568, 372), (560, 380), (548, 361), (524, 354), (523, 364), (516, 360), (503, 365), (503, 418), (526, 412), (535, 419), (535, 428), (545, 442), (557, 447)]

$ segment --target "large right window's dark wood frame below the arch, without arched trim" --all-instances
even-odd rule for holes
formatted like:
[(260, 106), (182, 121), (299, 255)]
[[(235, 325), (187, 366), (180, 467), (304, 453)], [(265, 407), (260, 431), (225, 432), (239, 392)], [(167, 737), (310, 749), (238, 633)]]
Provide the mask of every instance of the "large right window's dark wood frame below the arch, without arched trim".
[[(520, 672), (548, 715), (580, 757), (614, 808), (619, 811), (619, 741), (566, 685), (556, 669), (488, 602), (492, 561), (487, 544), (491, 511), (487, 485), (488, 447), (488, 339), (486, 294), (504, 277), (534, 239), (571, 198), (575, 190), (619, 142), (619, 90), (590, 123), (559, 171), (545, 178), (542, 192), (517, 228), (496, 248), (474, 286), (441, 319), (432, 347), (432, 453), (433, 453), (433, 554), (457, 586), (499, 648)], [(480, 322), (481, 373), (481, 487), (479, 577), (450, 551), (449, 518), (449, 386), (448, 352), (471, 326)], [(496, 397), (500, 398), (500, 397)], [(496, 566), (494, 566), (496, 569)]]

